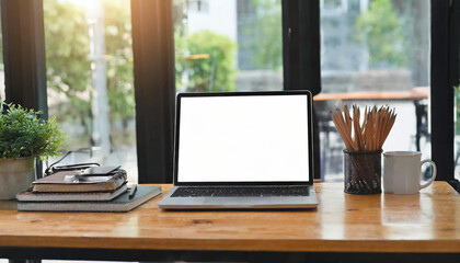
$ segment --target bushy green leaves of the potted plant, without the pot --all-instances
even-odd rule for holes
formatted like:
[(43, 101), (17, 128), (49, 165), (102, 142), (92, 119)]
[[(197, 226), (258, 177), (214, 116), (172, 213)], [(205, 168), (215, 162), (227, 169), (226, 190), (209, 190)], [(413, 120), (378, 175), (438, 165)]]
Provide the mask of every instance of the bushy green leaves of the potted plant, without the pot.
[(60, 155), (67, 135), (59, 128), (56, 118), (43, 121), (42, 112), (0, 102), (0, 157), (3, 159)]

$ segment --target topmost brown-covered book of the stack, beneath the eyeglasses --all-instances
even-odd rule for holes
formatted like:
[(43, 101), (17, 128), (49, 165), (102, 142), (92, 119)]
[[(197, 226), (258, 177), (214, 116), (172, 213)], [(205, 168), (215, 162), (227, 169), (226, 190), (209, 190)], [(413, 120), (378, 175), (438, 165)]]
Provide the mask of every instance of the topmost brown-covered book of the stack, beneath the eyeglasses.
[(112, 192), (126, 182), (125, 170), (105, 176), (81, 176), (76, 171), (61, 171), (32, 183), (33, 192)]

